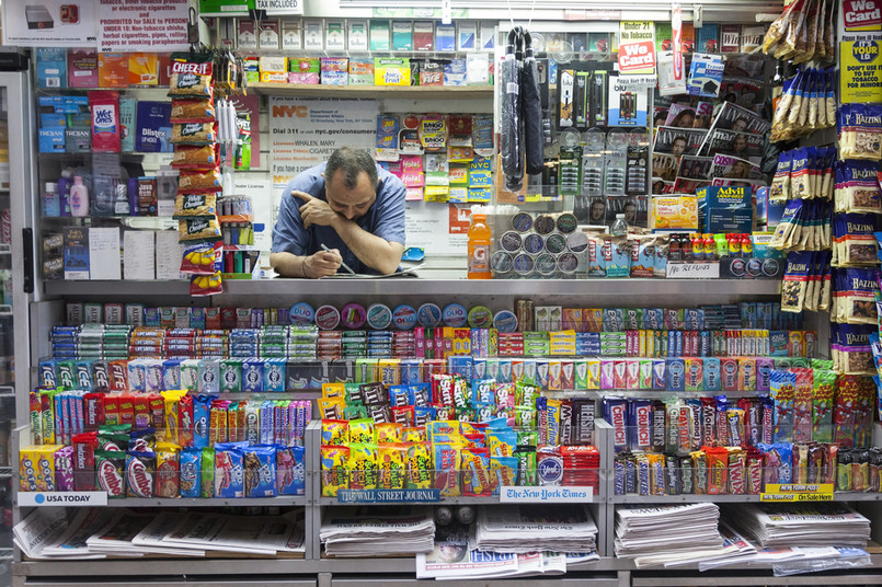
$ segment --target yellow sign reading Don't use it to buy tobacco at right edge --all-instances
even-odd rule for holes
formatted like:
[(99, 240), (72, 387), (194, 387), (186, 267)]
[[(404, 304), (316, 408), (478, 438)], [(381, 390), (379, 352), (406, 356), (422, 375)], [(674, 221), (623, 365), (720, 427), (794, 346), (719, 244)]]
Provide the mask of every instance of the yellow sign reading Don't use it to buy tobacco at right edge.
[(844, 104), (882, 103), (882, 42), (839, 43), (839, 95)]

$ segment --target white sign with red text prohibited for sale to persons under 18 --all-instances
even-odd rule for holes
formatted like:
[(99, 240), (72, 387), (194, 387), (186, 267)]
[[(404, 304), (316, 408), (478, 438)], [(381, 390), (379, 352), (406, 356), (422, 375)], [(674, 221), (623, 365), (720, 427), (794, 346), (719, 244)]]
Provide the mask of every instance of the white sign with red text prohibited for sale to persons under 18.
[(190, 48), (190, 0), (98, 0), (96, 3), (102, 51), (169, 53)]

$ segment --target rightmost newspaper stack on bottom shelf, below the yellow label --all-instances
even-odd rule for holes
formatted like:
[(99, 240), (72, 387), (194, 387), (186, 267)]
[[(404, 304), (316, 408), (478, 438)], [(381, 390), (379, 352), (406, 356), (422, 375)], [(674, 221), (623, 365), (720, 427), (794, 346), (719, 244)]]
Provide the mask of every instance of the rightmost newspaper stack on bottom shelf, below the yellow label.
[(763, 548), (866, 546), (870, 520), (845, 504), (738, 504), (735, 525)]

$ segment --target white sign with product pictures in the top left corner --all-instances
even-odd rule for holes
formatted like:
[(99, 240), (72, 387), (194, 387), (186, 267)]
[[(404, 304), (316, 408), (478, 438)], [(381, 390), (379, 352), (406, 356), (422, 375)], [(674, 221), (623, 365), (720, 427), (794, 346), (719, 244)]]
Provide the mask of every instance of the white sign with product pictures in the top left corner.
[(3, 45), (20, 47), (94, 47), (96, 2), (7, 0)]

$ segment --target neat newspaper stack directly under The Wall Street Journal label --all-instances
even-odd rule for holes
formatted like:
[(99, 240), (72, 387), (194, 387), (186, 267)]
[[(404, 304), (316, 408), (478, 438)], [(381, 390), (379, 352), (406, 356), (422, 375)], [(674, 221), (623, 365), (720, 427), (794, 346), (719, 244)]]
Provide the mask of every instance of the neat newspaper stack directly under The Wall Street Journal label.
[(428, 507), (332, 508), (319, 538), (329, 556), (376, 556), (431, 552), (435, 520)]

